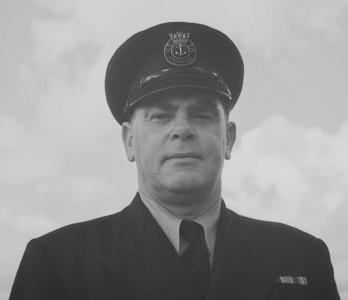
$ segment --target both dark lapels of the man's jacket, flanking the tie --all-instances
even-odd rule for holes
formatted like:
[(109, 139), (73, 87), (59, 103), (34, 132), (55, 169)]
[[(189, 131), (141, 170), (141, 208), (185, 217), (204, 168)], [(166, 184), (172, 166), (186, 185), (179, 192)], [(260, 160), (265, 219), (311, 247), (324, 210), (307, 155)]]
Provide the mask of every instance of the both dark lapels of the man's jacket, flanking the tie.
[[(137, 194), (120, 213), (110, 252), (100, 257), (130, 298), (200, 299), (174, 247)], [(281, 257), (266, 251), (242, 217), (224, 203), (207, 299), (266, 299)]]

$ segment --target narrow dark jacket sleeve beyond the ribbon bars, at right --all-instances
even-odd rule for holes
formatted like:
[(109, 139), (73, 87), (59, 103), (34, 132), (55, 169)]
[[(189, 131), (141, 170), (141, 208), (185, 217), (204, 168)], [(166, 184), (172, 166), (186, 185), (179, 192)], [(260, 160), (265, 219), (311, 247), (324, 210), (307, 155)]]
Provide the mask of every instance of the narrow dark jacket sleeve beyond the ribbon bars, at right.
[(326, 244), (316, 240), (315, 247), (308, 253), (311, 269), (310, 299), (339, 300), (334, 271)]

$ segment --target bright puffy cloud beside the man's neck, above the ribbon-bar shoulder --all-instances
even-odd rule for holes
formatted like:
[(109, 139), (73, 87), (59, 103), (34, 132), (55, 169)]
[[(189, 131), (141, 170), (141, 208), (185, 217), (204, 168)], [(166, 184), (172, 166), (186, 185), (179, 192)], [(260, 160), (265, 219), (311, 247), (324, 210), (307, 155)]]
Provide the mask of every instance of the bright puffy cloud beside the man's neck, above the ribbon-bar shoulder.
[(331, 135), (273, 116), (243, 135), (225, 165), (226, 193), (238, 195), (243, 210), (272, 218), (279, 210), (297, 218), (304, 206), (335, 215), (348, 192), (347, 151), (348, 123)]

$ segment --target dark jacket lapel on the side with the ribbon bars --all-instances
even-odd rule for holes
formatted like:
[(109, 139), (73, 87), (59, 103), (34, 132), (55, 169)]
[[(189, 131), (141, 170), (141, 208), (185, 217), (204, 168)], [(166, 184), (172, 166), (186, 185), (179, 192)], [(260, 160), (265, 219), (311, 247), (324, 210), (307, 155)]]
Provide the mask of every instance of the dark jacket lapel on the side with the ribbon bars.
[(264, 251), (240, 216), (223, 203), (208, 299), (267, 299), (281, 259)]

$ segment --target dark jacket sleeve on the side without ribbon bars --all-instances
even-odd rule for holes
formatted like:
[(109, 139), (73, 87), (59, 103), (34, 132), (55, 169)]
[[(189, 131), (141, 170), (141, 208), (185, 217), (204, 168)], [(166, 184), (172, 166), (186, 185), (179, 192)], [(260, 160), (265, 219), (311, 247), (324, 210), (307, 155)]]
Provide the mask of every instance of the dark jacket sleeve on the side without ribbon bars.
[(47, 250), (39, 239), (28, 243), (9, 299), (64, 299)]

